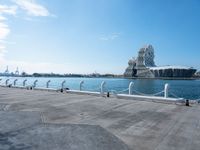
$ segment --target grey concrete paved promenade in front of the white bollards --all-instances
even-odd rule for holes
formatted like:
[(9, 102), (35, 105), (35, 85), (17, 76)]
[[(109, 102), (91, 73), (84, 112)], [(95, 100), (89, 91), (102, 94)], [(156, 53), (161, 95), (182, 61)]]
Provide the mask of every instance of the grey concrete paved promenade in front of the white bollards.
[(200, 105), (0, 87), (1, 150), (199, 150)]

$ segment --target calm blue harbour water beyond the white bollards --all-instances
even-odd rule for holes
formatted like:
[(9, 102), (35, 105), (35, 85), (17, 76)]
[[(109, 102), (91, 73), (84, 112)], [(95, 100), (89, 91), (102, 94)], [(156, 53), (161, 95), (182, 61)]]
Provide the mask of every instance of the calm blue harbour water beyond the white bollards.
[[(100, 91), (102, 81), (106, 82), (105, 90), (116, 92), (123, 91), (128, 88), (130, 82), (134, 82), (134, 91), (145, 94), (154, 94), (164, 89), (165, 83), (170, 85), (170, 96), (199, 99), (200, 98), (200, 80), (148, 80), (148, 79), (121, 79), (121, 78), (35, 78), (35, 77), (0, 77), (1, 85), (5, 85), (6, 79), (9, 79), (9, 84), (12, 84), (15, 79), (18, 79), (17, 86), (22, 86), (23, 81), (27, 79), (26, 85), (33, 85), (37, 79), (37, 87), (46, 87), (46, 82), (51, 80), (49, 88), (61, 88), (61, 83), (66, 80), (65, 87), (73, 90), (79, 90), (79, 84), (83, 80), (83, 90)], [(128, 90), (122, 92), (128, 93)], [(133, 92), (134, 93), (134, 92)], [(136, 93), (135, 93), (136, 94)], [(163, 95), (163, 94), (162, 94)], [(160, 95), (160, 96), (162, 96)]]

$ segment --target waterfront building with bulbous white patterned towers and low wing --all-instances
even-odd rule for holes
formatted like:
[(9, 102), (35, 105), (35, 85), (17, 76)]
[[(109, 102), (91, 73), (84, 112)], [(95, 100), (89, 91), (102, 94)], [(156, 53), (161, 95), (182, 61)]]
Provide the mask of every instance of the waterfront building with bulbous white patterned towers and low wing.
[(158, 67), (155, 65), (154, 57), (154, 48), (152, 45), (142, 47), (138, 52), (138, 56), (129, 60), (124, 76), (144, 78), (190, 78), (196, 72), (196, 69), (185, 66)]

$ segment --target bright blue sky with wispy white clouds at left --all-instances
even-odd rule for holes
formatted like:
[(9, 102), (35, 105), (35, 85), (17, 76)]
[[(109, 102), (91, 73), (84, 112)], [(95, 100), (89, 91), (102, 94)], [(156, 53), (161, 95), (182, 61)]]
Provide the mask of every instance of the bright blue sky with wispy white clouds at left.
[(0, 71), (122, 74), (146, 44), (200, 69), (199, 27), (199, 0), (0, 0)]

